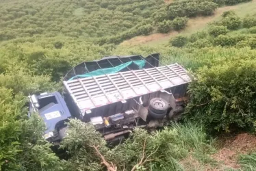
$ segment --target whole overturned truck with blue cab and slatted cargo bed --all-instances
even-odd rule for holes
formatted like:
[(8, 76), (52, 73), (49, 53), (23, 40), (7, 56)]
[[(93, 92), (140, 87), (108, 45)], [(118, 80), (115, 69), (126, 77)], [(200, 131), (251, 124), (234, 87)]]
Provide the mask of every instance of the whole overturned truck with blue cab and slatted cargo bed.
[[(178, 120), (188, 101), (186, 89), (190, 81), (179, 64), (159, 66), (158, 53), (146, 58), (104, 57), (83, 62), (67, 73), (63, 81), (64, 101), (60, 99), (64, 104), (49, 101), (49, 107), (57, 111), (39, 104), (43, 96), (49, 98), (54, 93), (29, 96), (30, 111), (38, 111), (44, 122), (51, 125), (45, 135), (51, 142), (62, 140), (64, 121), (71, 117), (91, 122), (108, 142), (120, 142), (135, 127), (150, 129)], [(57, 109), (62, 107), (65, 109)]]

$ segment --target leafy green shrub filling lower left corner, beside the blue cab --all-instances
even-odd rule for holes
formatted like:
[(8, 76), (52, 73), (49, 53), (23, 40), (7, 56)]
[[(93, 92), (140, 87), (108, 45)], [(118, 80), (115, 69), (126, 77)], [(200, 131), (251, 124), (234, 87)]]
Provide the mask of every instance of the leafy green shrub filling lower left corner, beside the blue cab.
[(42, 119), (38, 114), (27, 118), (24, 96), (0, 87), (0, 101), (1, 170), (62, 170), (60, 159), (43, 140)]

